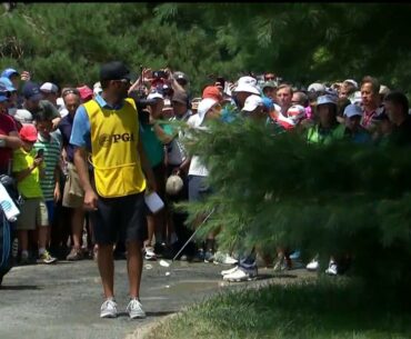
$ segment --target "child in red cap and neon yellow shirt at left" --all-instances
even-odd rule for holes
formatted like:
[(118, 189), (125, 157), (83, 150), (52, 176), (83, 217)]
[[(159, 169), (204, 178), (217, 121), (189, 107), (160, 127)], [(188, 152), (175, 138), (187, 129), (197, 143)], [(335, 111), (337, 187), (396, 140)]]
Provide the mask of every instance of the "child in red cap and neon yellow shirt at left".
[(32, 124), (24, 124), (20, 130), (22, 147), (13, 154), (13, 173), (18, 181), (19, 192), (24, 198), (20, 216), (17, 221), (19, 245), (21, 247), (21, 262), (29, 262), (28, 231), (38, 228), (39, 260), (52, 263), (56, 258), (47, 251), (49, 216), (40, 186), (40, 178), (44, 176), (43, 153), (33, 148), (37, 141), (37, 129)]

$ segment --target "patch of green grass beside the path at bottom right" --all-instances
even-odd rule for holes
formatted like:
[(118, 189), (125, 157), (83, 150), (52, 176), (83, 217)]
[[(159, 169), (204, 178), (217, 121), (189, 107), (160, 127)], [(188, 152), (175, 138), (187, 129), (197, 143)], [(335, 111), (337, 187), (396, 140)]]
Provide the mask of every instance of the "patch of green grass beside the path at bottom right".
[(149, 339), (400, 339), (411, 313), (347, 280), (227, 291), (164, 321)]

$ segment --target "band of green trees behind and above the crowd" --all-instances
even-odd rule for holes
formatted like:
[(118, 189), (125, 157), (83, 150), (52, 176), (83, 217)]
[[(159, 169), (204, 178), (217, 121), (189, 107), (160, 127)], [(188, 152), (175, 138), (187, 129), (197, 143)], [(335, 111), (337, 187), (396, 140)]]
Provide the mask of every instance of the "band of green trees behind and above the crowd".
[(0, 67), (93, 83), (99, 63), (209, 74), (271, 70), (294, 83), (378, 77), (409, 91), (407, 3), (19, 3), (0, 20)]

